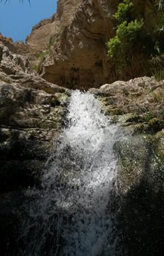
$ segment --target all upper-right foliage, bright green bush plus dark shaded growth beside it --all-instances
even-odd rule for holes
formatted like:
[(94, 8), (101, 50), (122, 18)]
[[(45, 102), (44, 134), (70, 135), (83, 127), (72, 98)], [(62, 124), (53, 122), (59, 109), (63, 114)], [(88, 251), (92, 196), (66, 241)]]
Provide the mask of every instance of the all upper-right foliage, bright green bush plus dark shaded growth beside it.
[[(158, 80), (164, 78), (164, 1), (156, 0), (150, 5), (152, 19), (145, 20), (137, 4), (123, 0), (117, 7), (113, 18), (116, 23), (116, 36), (107, 42), (109, 59), (116, 63), (118, 72), (128, 67), (135, 55), (144, 56), (148, 72)], [(145, 8), (145, 6), (144, 6)], [(147, 7), (148, 8), (148, 7)], [(148, 11), (148, 10), (147, 10)], [(138, 13), (140, 12), (140, 13)], [(138, 18), (139, 17), (139, 18)], [(146, 74), (147, 75), (147, 74)]]

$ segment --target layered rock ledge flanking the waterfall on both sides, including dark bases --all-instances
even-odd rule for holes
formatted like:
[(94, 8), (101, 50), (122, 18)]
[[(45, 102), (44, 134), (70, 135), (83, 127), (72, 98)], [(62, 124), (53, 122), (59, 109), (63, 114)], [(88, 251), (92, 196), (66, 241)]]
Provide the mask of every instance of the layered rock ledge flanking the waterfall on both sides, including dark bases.
[[(163, 90), (164, 80), (148, 77), (90, 89), (109, 120), (122, 127), (122, 140), (114, 146), (119, 193), (114, 195), (113, 206), (119, 210), (116, 227), (122, 255), (127, 248), (128, 255), (137, 256), (163, 251)], [(24, 200), (22, 189), (39, 186), (39, 176), (64, 124), (69, 94), (69, 89), (36, 76), (28, 57), (12, 53), (1, 43), (1, 255), (17, 255), (11, 234), (17, 236), (19, 220), (13, 209)]]

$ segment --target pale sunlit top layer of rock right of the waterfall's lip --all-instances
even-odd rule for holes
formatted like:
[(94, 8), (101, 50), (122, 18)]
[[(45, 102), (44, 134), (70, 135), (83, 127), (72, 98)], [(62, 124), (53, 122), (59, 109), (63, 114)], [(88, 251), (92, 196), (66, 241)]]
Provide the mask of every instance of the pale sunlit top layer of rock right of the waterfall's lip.
[(107, 113), (133, 113), (143, 118), (147, 115), (145, 120), (148, 120), (153, 116), (164, 118), (163, 89), (163, 80), (157, 82), (153, 77), (142, 77), (128, 81), (118, 80), (90, 91), (101, 95), (100, 99), (106, 105)]

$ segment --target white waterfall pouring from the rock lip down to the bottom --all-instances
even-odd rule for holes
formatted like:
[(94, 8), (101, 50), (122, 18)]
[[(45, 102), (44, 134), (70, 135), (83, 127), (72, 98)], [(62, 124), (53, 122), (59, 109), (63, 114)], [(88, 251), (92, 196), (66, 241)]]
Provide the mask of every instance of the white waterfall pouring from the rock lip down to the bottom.
[(92, 94), (80, 91), (71, 94), (67, 118), (41, 188), (26, 191), (20, 255), (114, 256), (110, 193), (120, 129)]

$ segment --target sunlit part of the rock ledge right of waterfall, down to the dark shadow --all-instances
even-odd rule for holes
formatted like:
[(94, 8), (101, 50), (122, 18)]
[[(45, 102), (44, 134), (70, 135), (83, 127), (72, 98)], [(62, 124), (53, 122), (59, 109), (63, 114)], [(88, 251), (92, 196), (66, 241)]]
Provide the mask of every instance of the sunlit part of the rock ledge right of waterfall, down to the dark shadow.
[(119, 156), (118, 182), (122, 194), (136, 186), (143, 177), (155, 189), (159, 180), (155, 185), (153, 177), (160, 176), (160, 185), (163, 184), (163, 90), (164, 80), (157, 82), (148, 77), (116, 81), (100, 89), (90, 89), (101, 101), (109, 120), (119, 122), (122, 127), (125, 138), (115, 146)]

